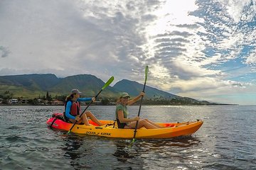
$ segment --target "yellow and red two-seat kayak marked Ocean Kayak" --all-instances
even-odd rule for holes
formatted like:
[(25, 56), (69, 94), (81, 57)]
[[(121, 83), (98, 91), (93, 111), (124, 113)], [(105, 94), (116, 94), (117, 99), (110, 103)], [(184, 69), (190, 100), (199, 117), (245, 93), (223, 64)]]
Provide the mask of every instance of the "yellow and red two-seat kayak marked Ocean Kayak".
[[(61, 113), (60, 113), (61, 114)], [(114, 137), (132, 139), (134, 136), (134, 129), (120, 129), (117, 128), (117, 123), (114, 120), (100, 120), (102, 126), (89, 120), (90, 126), (75, 125), (71, 132), (82, 135), (96, 135), (103, 137)], [(60, 118), (49, 118), (46, 123), (51, 128), (68, 131), (73, 126), (73, 123), (67, 123)], [(159, 129), (137, 129), (137, 139), (166, 139), (171, 137), (188, 136), (196, 132), (201, 125), (202, 120), (182, 123), (157, 123), (165, 128)]]

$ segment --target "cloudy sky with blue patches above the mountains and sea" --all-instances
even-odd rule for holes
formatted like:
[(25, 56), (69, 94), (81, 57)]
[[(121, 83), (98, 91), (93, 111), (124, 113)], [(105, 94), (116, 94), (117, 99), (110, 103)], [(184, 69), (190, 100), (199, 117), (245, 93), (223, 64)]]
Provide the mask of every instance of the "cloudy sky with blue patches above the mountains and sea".
[(1, 0), (0, 75), (114, 76), (256, 104), (256, 0)]

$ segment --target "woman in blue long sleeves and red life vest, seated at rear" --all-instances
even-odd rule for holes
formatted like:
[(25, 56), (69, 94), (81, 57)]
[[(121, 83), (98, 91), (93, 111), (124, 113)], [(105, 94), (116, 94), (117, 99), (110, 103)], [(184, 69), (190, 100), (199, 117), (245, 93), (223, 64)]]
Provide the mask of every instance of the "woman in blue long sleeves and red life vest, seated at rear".
[(87, 119), (90, 118), (93, 122), (97, 123), (97, 125), (103, 125), (100, 123), (97, 118), (95, 118), (95, 115), (93, 115), (90, 111), (86, 111), (82, 114), (82, 117), (80, 118), (81, 113), (81, 106), (80, 101), (95, 101), (95, 97), (92, 98), (80, 98), (81, 92), (78, 89), (73, 89), (71, 91), (71, 94), (67, 96), (65, 99), (65, 113), (64, 117), (66, 120), (70, 121), (71, 123), (75, 123), (75, 120), (77, 120), (77, 124), (85, 123), (85, 125), (90, 125), (89, 121)]

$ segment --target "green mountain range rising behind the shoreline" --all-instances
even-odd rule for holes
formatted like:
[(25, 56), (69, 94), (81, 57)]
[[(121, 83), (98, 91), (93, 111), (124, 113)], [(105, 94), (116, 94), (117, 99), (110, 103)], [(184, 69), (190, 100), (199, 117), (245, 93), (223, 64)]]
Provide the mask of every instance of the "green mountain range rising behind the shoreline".
[[(9, 91), (14, 97), (38, 98), (46, 96), (48, 92), (51, 96), (67, 96), (71, 89), (82, 91), (83, 97), (95, 96), (102, 89), (105, 82), (91, 74), (79, 74), (65, 78), (58, 78), (55, 74), (22, 74), (11, 76), (0, 76), (0, 94)], [(130, 96), (137, 96), (143, 89), (143, 84), (136, 81), (123, 79), (114, 86), (107, 86), (100, 94), (102, 98), (117, 98), (123, 91)], [(179, 98), (191, 102), (199, 102), (193, 98), (183, 98), (166, 91), (146, 86), (147, 99), (171, 100)], [(207, 101), (204, 101), (207, 103)]]

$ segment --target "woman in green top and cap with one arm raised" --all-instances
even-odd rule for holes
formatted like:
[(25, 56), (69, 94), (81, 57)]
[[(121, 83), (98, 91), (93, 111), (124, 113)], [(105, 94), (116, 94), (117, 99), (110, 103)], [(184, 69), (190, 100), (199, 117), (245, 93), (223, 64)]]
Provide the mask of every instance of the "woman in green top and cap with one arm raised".
[(138, 126), (137, 128), (146, 128), (146, 129), (158, 129), (164, 128), (161, 125), (157, 125), (156, 123), (148, 120), (148, 119), (140, 119), (138, 116), (134, 118), (128, 118), (128, 110), (127, 106), (132, 105), (133, 103), (139, 101), (139, 99), (144, 96), (144, 92), (139, 94), (139, 96), (135, 97), (134, 99), (129, 100), (130, 96), (126, 92), (122, 93), (117, 101), (116, 107), (116, 118), (117, 118), (117, 125), (118, 128), (122, 129), (132, 129), (135, 128), (137, 120)]

